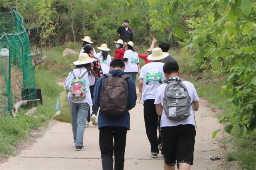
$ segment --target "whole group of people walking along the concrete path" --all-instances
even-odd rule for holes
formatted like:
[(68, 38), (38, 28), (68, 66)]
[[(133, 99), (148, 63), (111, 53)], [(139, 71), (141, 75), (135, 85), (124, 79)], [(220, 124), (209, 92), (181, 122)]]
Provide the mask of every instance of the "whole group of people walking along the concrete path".
[[(65, 81), (64, 87), (70, 91), (68, 99), (75, 150), (84, 150), (84, 130), (92, 121), (92, 124), (98, 125), (99, 129), (102, 169), (124, 169), (126, 133), (130, 130), (129, 111), (136, 105), (135, 82), (139, 81), (139, 96), (144, 102), (146, 134), (151, 145), (150, 157), (158, 158), (160, 150), (164, 155), (164, 169), (175, 169), (176, 163), (180, 169), (190, 169), (193, 164), (196, 135), (194, 111), (199, 107), (199, 98), (194, 85), (182, 81), (191, 97), (190, 104), (194, 105), (190, 108), (190, 117), (182, 121), (167, 119), (163, 109), (167, 85), (165, 82), (174, 79), (174, 76), (177, 80), (180, 79), (178, 63), (167, 53), (168, 43), (160, 43), (159, 47), (154, 48), (156, 40), (153, 38), (150, 49), (145, 50), (148, 55), (141, 56), (144, 57), (146, 65), (140, 70), (139, 55), (131, 41), (132, 32), (130, 28), (126, 28), (127, 23), (129, 21), (125, 20), (122, 28), (118, 28), (117, 31), (120, 38), (122, 36), (128, 42), (121, 39), (114, 42), (117, 50), (113, 60), (108, 54), (110, 49), (106, 44), (97, 47), (100, 53), (95, 53), (93, 42), (86, 36), (82, 40), (84, 43), (79, 58), (74, 62), (75, 67)], [(124, 30), (126, 33), (122, 33)], [(139, 71), (139, 79), (136, 79)], [(120, 85), (115, 86), (115, 83)], [(122, 107), (120, 109), (120, 105), (125, 109), (122, 110)], [(92, 114), (90, 114), (90, 106), (92, 106)], [(108, 107), (112, 109), (108, 114), (120, 115), (113, 117), (108, 115)], [(96, 121), (97, 113), (98, 121)], [(158, 126), (160, 126), (159, 136)]]

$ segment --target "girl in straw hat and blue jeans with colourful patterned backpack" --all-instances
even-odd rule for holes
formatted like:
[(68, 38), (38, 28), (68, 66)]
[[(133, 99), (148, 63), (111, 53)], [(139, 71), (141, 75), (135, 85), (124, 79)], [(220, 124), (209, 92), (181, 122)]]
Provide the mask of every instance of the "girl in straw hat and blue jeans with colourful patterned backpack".
[[(70, 93), (68, 93), (68, 101), (72, 118), (73, 139), (77, 151), (84, 150), (83, 140), (84, 130), (86, 128), (86, 117), (90, 106), (92, 106), (90, 86), (94, 85), (95, 82), (94, 71), (91, 68), (91, 62), (93, 61), (94, 59), (90, 59), (88, 54), (80, 54), (78, 61), (74, 62), (74, 65), (76, 65), (75, 68), (68, 74), (64, 85), (65, 89), (70, 91)], [(80, 91), (80, 86), (76, 87), (76, 85), (74, 85), (71, 87), (71, 84), (74, 84), (72, 81), (79, 78), (82, 79), (84, 84), (82, 91)], [(84, 93), (86, 94), (84, 95)], [(77, 98), (74, 99), (76, 96)]]

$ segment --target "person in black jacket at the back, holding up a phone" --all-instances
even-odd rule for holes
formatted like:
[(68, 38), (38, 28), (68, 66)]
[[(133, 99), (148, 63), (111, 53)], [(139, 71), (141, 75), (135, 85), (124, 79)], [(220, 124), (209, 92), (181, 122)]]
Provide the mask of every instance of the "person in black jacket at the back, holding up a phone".
[(128, 26), (129, 21), (124, 20), (122, 25), (116, 31), (119, 34), (119, 39), (123, 40), (124, 42), (133, 42), (132, 30)]

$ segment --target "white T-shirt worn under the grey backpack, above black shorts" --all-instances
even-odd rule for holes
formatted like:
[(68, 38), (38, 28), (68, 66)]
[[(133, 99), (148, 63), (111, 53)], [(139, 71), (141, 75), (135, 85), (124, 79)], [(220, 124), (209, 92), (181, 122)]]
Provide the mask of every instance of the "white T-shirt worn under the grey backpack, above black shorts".
[[(198, 101), (199, 97), (196, 93), (196, 89), (195, 89), (194, 85), (188, 81), (182, 81), (182, 83), (188, 89), (188, 94), (191, 97), (190, 103), (192, 103), (193, 101)], [(165, 83), (163, 85), (160, 85), (156, 89), (155, 104), (161, 103), (163, 106), (164, 90), (165, 90), (166, 86), (167, 86), (167, 84)], [(161, 127), (174, 127), (174, 126), (186, 125), (186, 124), (192, 124), (192, 125), (196, 126), (195, 118), (194, 118), (194, 111), (192, 109), (192, 106), (190, 108), (190, 117), (188, 117), (187, 119), (185, 119), (183, 121), (171, 121), (171, 120), (167, 119), (166, 115), (164, 113), (164, 109), (163, 109), (162, 117), (161, 117)]]

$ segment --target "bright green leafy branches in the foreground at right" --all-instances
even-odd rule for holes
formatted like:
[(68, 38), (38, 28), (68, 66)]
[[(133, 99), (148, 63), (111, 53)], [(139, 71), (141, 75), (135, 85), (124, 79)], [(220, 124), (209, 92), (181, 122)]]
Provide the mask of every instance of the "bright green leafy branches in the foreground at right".
[(256, 128), (256, 2), (149, 0), (159, 2), (163, 8), (150, 14), (153, 29), (171, 29), (182, 51), (191, 54), (194, 70), (228, 74), (221, 94), (228, 94), (226, 103), (233, 103), (236, 110), (220, 119), (226, 124), (224, 130), (231, 134), (234, 125), (239, 125), (239, 135), (252, 133)]

